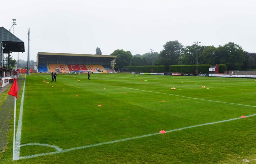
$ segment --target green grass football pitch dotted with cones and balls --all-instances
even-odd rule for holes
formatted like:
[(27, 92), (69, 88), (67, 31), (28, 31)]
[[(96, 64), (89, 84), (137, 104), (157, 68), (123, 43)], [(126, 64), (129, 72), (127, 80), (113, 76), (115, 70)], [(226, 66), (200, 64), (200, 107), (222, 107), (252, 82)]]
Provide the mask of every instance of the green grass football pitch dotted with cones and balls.
[(255, 79), (90, 78), (26, 76), (2, 162), (256, 163)]

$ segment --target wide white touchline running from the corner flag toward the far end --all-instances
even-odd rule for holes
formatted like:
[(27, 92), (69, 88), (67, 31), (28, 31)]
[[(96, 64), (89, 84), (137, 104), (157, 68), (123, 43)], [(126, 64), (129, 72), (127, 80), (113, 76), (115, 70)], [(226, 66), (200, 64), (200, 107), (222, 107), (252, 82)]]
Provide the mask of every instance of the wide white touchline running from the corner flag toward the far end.
[(24, 79), (23, 92), (22, 92), (21, 103), (20, 103), (20, 115), (19, 115), (18, 126), (17, 126), (16, 141), (14, 145), (15, 146), (14, 159), (19, 159), (20, 157), (20, 137), (21, 137), (23, 103), (24, 103), (24, 94), (25, 94), (25, 83), (26, 83), (26, 75)]

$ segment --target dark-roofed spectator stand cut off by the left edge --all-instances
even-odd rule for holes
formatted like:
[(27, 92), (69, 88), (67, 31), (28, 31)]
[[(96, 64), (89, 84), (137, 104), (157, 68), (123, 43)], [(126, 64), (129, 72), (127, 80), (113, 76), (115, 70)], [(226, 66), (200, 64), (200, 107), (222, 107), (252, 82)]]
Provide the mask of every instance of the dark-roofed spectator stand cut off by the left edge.
[(13, 70), (10, 69), (10, 53), (24, 52), (24, 42), (0, 27), (0, 88), (13, 80)]

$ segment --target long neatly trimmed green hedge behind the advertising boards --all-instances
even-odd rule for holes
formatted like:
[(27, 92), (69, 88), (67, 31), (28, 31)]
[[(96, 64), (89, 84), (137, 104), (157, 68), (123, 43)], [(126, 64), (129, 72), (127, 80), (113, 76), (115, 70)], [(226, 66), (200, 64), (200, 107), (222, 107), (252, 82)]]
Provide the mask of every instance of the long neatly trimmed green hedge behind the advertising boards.
[[(199, 73), (209, 73), (210, 65), (198, 65)], [(151, 72), (151, 66), (125, 66), (125, 69), (128, 68), (129, 72)], [(176, 72), (176, 73), (195, 73), (197, 65), (167, 65), (167, 66), (153, 66), (154, 72)], [(224, 73), (227, 70), (226, 65), (219, 65), (219, 73)]]

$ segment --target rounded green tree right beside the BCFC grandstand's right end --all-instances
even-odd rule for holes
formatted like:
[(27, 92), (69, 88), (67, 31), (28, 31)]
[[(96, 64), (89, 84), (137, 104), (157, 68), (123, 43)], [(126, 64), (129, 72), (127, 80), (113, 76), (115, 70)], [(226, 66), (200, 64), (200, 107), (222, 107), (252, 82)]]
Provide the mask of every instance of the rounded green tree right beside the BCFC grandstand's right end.
[(122, 68), (126, 65), (130, 65), (130, 63), (131, 63), (132, 54), (130, 51), (124, 51), (122, 49), (117, 49), (110, 55), (117, 56), (115, 70), (118, 70), (119, 68)]

